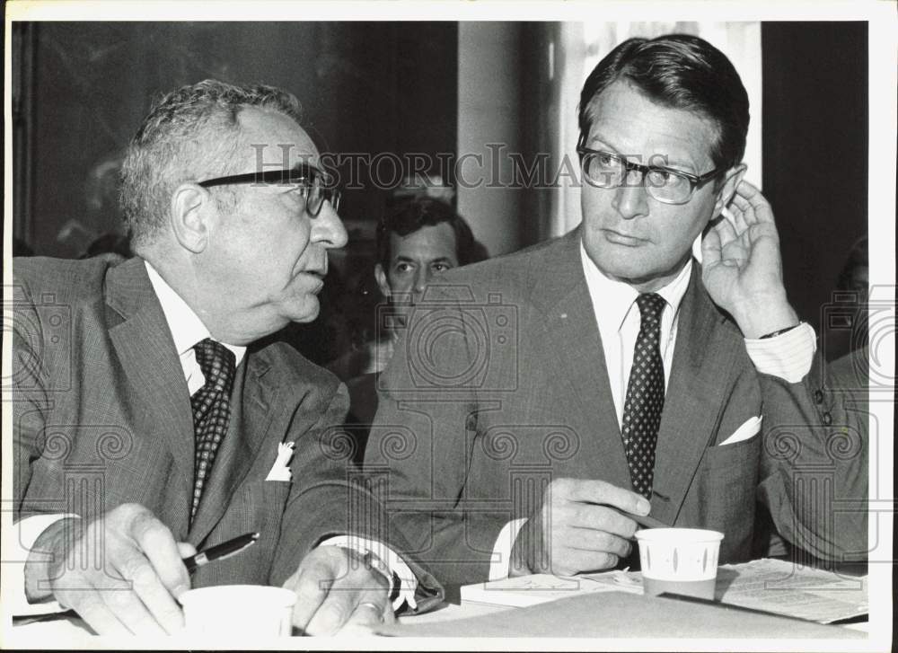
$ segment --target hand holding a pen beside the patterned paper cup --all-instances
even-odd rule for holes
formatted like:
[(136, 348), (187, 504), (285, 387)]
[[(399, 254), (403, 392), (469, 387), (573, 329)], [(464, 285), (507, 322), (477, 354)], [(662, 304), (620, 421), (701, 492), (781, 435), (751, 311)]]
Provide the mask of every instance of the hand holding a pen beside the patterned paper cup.
[(511, 576), (572, 576), (614, 567), (629, 555), (637, 523), (615, 508), (647, 515), (648, 501), (604, 481), (558, 479), (512, 547)]

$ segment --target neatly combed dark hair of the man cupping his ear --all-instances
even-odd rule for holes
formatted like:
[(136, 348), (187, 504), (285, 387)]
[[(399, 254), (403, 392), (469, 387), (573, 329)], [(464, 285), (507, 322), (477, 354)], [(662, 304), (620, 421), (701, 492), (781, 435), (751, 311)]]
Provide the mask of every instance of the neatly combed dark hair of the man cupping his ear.
[(580, 92), (579, 145), (592, 127), (591, 103), (619, 79), (634, 84), (656, 104), (691, 110), (718, 128), (711, 146), (716, 168), (742, 161), (748, 133), (748, 93), (726, 55), (708, 41), (687, 34), (629, 39), (612, 49), (593, 69)]

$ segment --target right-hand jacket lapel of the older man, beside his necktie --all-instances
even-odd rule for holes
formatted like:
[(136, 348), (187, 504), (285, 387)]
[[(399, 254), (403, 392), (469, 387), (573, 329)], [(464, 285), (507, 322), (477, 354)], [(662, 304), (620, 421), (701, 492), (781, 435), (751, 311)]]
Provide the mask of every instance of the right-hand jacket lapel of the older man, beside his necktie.
[(269, 368), (265, 353), (250, 349), (237, 370), (231, 393), (228, 434), (216, 453), (212, 475), (190, 527), (191, 543), (202, 543), (215, 528), (260, 454), (272, 425), (271, 407), (279, 405), (277, 394), (286, 386), (267, 376)]

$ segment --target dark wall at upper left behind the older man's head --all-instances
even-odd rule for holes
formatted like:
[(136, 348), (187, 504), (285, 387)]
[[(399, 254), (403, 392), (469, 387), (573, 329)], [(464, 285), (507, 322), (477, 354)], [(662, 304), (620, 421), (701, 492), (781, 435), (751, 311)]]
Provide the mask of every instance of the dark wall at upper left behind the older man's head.
[[(295, 93), (322, 152), (453, 153), (456, 33), (454, 22), (20, 24), (16, 137), (29, 143), (15, 163), (31, 170), (31, 196), (17, 202), (16, 235), (76, 256), (82, 227), (119, 228), (114, 166), (150, 98), (207, 77)], [(350, 230), (386, 195), (371, 184), (345, 193)]]

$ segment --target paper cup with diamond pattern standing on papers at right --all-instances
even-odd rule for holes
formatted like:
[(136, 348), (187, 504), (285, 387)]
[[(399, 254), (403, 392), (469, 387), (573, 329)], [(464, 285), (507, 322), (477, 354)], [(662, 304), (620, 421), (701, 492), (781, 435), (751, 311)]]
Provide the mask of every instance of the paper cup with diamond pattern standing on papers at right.
[(714, 598), (724, 534), (700, 528), (647, 528), (636, 532), (645, 593)]

